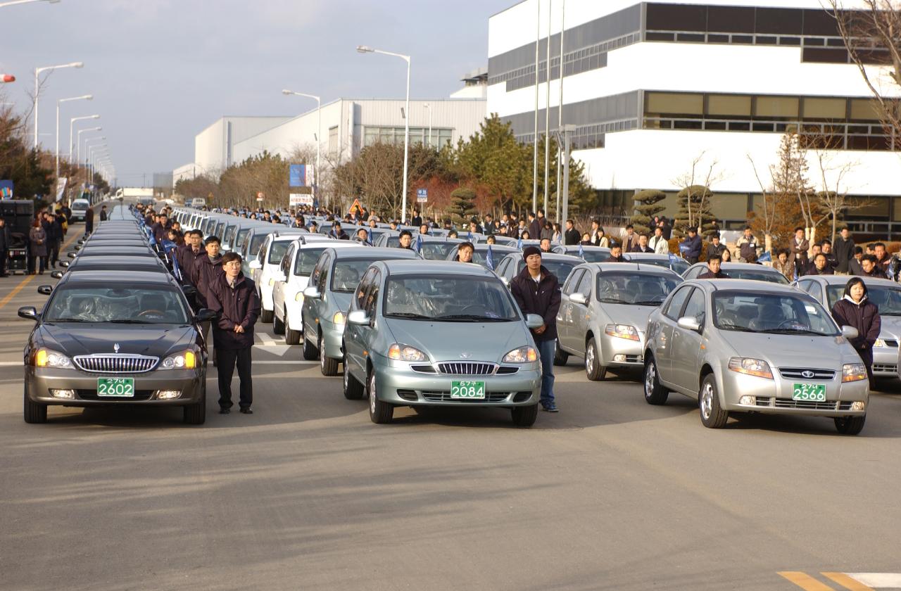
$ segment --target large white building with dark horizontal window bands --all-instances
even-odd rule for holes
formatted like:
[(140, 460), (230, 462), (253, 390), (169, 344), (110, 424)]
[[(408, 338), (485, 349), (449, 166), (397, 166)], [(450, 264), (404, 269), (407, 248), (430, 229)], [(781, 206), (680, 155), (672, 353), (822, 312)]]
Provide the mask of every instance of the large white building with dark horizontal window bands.
[[(551, 132), (558, 127), (562, 5), (524, 0), (488, 22), (487, 110), (524, 141), (534, 132), (536, 25), (539, 133), (549, 25)], [(565, 10), (562, 123), (576, 125), (574, 156), (612, 210), (631, 213), (640, 189), (674, 195), (703, 154), (702, 166), (715, 160), (721, 173), (714, 213), (742, 225), (760, 203), (748, 156), (769, 184), (783, 132), (803, 124), (833, 129), (842, 144), (833, 166), (853, 163), (844, 190), (873, 204), (849, 214), (852, 230), (897, 222), (901, 231), (901, 159), (820, 0), (567, 0)], [(666, 203), (675, 214), (674, 196)]]

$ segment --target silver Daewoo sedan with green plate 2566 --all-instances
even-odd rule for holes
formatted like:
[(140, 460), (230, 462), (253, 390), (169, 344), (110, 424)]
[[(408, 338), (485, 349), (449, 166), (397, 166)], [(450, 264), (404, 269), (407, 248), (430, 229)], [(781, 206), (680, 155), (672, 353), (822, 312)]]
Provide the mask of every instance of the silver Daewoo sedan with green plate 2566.
[(689, 396), (713, 429), (730, 413), (829, 416), (839, 432), (863, 429), (867, 370), (848, 342), (857, 330), (794, 287), (687, 281), (651, 314), (646, 335), (648, 404)]

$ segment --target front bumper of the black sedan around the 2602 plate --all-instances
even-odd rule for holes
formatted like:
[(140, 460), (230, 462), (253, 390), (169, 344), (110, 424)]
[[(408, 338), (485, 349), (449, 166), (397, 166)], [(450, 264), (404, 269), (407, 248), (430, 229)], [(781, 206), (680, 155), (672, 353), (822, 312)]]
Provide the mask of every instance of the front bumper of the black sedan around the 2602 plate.
[[(135, 396), (97, 396), (98, 377), (133, 377)], [(163, 405), (184, 406), (200, 402), (204, 395), (206, 369), (157, 369), (144, 374), (89, 374), (78, 369), (25, 367), (28, 397), (42, 405)], [(50, 389), (75, 390), (75, 398), (57, 398)], [(160, 390), (179, 390), (181, 396), (159, 400)]]

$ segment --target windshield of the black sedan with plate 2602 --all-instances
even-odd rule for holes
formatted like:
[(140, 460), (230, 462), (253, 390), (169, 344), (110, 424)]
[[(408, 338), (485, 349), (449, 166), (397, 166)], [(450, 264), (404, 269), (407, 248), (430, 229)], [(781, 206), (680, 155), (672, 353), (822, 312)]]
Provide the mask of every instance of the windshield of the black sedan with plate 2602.
[(47, 323), (187, 324), (184, 299), (175, 289), (73, 286), (53, 294)]

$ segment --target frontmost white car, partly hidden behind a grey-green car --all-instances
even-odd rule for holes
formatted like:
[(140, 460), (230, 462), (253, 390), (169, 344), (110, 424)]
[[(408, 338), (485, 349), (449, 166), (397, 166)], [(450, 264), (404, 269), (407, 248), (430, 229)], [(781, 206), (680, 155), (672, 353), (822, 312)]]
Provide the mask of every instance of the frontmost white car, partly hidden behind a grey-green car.
[(304, 334), (304, 289), (320, 255), (326, 249), (369, 248), (358, 241), (322, 240), (316, 234), (292, 242), (275, 277), (272, 300), (275, 320), (272, 332), (285, 334), (285, 342), (299, 345)]

